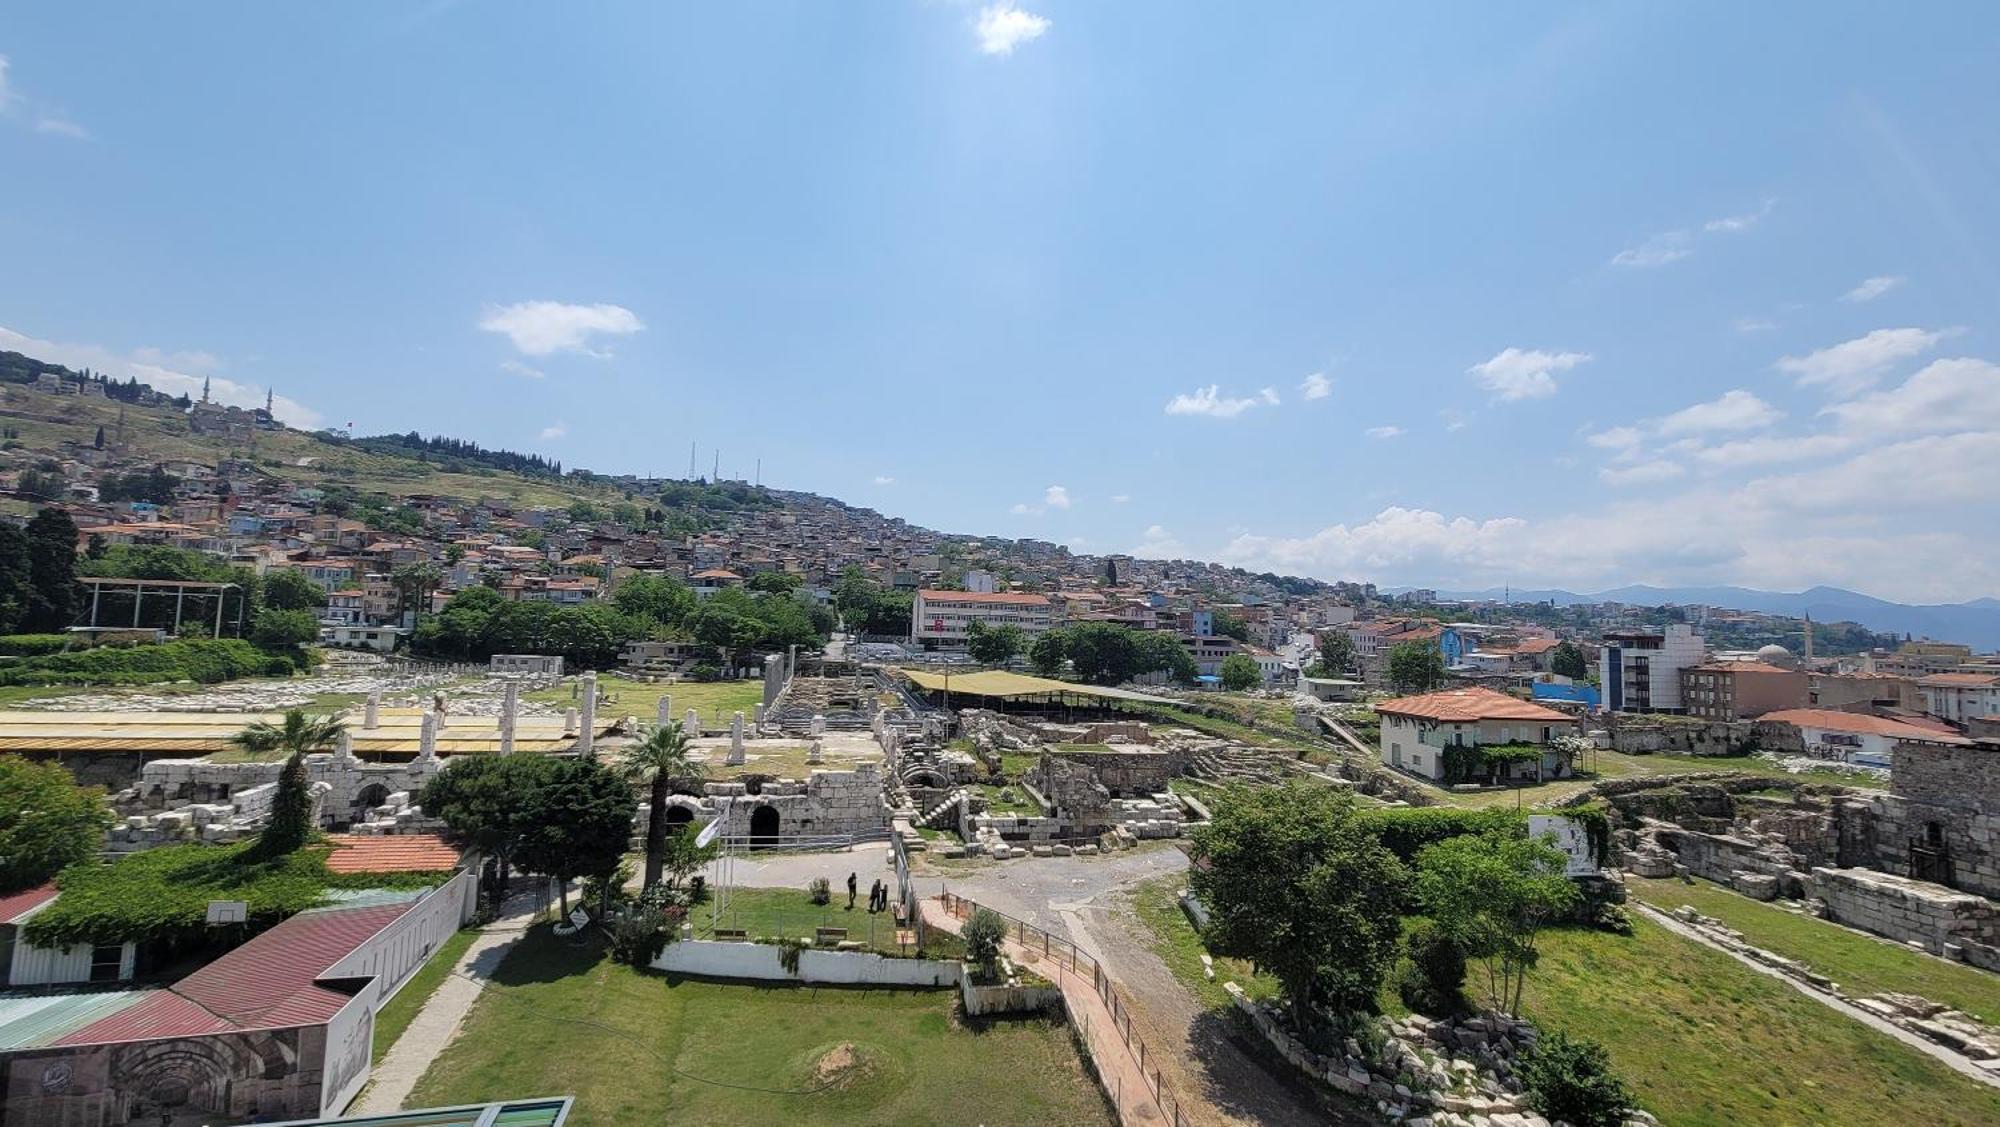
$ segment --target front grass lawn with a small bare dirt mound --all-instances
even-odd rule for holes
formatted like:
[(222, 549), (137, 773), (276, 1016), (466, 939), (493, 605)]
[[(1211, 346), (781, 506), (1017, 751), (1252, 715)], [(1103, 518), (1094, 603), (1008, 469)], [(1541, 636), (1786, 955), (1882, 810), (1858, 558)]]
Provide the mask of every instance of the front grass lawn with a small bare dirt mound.
[(572, 1127), (1112, 1123), (1062, 1021), (966, 1023), (954, 997), (672, 979), (534, 929), (410, 1107), (566, 1093)]

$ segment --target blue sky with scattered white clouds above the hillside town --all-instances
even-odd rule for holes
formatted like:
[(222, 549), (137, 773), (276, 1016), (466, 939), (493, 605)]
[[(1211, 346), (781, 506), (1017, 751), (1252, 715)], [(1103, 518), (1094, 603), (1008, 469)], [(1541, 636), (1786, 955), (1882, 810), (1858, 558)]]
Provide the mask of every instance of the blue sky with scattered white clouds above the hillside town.
[(2000, 593), (2000, 8), (0, 18), (0, 348), (1426, 585)]

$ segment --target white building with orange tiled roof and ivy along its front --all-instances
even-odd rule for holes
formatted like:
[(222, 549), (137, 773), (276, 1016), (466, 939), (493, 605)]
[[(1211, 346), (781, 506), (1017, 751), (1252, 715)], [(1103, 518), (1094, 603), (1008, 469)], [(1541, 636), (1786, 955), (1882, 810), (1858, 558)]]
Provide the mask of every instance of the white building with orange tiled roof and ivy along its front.
[(1452, 747), (1540, 747), (1482, 775), (1546, 779), (1568, 773), (1568, 755), (1550, 747), (1576, 729), (1568, 713), (1486, 687), (1444, 689), (1376, 705), (1382, 717), (1382, 763), (1426, 779), (1446, 777)]

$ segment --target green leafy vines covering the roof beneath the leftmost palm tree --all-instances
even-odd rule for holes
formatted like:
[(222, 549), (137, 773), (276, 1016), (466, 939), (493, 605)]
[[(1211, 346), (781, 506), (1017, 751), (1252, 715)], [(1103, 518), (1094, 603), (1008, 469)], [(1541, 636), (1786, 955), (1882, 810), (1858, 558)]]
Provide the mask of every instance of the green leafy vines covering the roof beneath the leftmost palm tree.
[(324, 845), (260, 857), (256, 839), (236, 845), (162, 845), (122, 861), (82, 861), (56, 877), (62, 895), (24, 925), (38, 947), (72, 943), (158, 943), (192, 947), (208, 939), (208, 901), (248, 903), (238, 935), (272, 927), (328, 903), (332, 887), (430, 887), (450, 873), (334, 875)]

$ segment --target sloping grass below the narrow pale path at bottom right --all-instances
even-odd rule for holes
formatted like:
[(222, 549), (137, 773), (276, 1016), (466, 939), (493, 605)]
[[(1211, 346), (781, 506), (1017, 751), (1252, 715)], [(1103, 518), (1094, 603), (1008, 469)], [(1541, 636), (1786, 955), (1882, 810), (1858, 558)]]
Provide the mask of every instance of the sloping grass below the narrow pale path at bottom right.
[(1666, 1123), (2000, 1123), (2000, 1091), (1646, 919), (1554, 931), (1526, 1013), (1602, 1041)]

